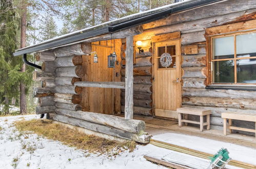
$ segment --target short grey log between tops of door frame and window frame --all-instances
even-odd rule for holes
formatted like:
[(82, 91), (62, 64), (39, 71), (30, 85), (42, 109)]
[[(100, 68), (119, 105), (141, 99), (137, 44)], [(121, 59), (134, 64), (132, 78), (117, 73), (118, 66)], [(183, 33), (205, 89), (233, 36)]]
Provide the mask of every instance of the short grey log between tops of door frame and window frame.
[(200, 32), (190, 32), (181, 35), (181, 45), (190, 45), (193, 43), (198, 43), (200, 41), (206, 41), (205, 31)]

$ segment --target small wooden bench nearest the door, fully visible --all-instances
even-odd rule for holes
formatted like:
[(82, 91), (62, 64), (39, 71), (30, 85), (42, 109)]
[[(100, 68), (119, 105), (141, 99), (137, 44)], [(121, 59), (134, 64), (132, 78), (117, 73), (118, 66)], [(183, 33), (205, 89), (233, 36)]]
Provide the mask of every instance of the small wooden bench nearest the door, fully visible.
[[(187, 125), (187, 123), (200, 124), (201, 132), (203, 132), (205, 125), (207, 125), (207, 130), (210, 129), (210, 114), (211, 114), (210, 110), (197, 109), (197, 108), (178, 108), (176, 110), (176, 112), (179, 115), (178, 117), (179, 117), (179, 127), (180, 128), (182, 127), (182, 122), (185, 122), (185, 125)], [(182, 114), (185, 114), (185, 119), (182, 119)], [(188, 114), (200, 116), (200, 122), (188, 120), (187, 119)], [(204, 122), (205, 115), (207, 116), (206, 122)]]

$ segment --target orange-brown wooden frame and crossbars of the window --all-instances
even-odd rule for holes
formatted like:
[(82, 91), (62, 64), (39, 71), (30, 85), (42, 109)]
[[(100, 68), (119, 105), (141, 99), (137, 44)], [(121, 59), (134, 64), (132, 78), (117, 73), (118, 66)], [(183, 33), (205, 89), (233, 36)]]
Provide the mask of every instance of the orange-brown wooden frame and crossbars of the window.
[[(237, 57), (237, 35), (241, 34), (248, 34), (248, 33), (256, 33), (256, 30), (248, 30), (248, 31), (243, 31), (243, 32), (234, 32), (234, 33), (226, 33), (222, 35), (213, 35), (210, 37), (207, 37), (207, 44), (206, 46), (208, 47), (208, 61), (207, 61), (207, 67), (209, 70), (208, 73), (208, 80), (207, 83), (208, 85), (230, 85), (230, 86), (235, 86), (235, 85), (243, 85), (243, 86), (248, 86), (248, 85), (256, 85), (256, 83), (241, 83), (237, 82), (237, 60), (241, 59), (256, 59), (256, 56), (252, 57)], [(213, 59), (213, 39), (214, 38), (219, 38), (219, 37), (227, 37), (227, 36), (233, 36), (234, 37), (234, 58), (224, 58), (224, 59)], [(234, 61), (234, 82), (230, 83), (225, 83), (225, 82), (213, 82), (213, 61), (225, 61), (225, 60), (233, 60)]]

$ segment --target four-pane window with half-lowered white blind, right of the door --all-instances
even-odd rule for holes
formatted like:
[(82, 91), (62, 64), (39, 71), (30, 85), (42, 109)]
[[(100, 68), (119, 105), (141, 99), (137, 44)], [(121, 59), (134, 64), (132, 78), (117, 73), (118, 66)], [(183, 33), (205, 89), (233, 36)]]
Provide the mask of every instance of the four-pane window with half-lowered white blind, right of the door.
[(256, 83), (256, 32), (211, 37), (212, 83)]

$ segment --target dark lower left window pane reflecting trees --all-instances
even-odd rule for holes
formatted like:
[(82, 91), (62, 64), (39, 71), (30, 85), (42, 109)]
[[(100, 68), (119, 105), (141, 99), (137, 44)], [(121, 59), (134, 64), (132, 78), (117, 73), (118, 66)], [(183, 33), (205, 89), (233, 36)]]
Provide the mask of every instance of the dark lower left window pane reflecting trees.
[(215, 83), (231, 83), (234, 82), (234, 61), (213, 61)]

